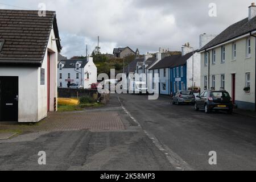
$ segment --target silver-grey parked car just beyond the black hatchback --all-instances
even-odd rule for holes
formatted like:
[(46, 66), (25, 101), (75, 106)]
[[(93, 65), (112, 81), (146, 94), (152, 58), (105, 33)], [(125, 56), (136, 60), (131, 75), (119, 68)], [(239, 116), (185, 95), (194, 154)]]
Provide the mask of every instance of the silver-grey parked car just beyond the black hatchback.
[(179, 91), (172, 99), (172, 104), (195, 104), (196, 97), (191, 90)]

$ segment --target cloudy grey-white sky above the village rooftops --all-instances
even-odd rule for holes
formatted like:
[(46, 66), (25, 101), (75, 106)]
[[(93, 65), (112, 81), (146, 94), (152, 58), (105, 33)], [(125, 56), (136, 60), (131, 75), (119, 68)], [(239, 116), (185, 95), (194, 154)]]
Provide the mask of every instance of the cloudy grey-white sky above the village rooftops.
[[(159, 47), (180, 51), (185, 42), (199, 47), (199, 35), (219, 34), (248, 15), (253, 0), (0, 0), (1, 9), (38, 10), (44, 3), (57, 13), (63, 55), (85, 55), (97, 46), (103, 53), (129, 46), (141, 53)], [(209, 4), (217, 16), (209, 16)]]

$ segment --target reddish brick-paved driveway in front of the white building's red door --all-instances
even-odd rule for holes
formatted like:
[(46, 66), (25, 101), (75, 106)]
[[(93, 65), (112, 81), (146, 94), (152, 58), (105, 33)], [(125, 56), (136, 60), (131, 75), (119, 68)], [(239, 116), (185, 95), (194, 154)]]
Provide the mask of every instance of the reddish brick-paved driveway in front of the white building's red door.
[(117, 111), (81, 111), (49, 113), (43, 121), (35, 124), (0, 123), (0, 130), (21, 132), (38, 131), (120, 131), (125, 130)]

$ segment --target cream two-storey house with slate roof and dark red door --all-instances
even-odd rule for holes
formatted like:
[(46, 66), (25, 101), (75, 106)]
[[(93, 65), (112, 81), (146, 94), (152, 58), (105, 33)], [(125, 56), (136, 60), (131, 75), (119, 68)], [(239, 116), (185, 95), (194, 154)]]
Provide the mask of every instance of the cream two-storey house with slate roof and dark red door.
[[(201, 88), (225, 89), (241, 109), (255, 110), (256, 6), (201, 48)], [(203, 90), (203, 89), (202, 89)]]

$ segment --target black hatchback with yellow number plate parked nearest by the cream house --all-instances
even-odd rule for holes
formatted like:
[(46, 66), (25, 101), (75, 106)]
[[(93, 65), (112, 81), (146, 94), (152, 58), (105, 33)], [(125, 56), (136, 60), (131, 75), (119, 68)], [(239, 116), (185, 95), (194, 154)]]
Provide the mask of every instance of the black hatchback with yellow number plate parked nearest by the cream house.
[(225, 110), (233, 113), (233, 100), (225, 90), (207, 90), (196, 97), (195, 110), (204, 109), (205, 113), (215, 110)]

